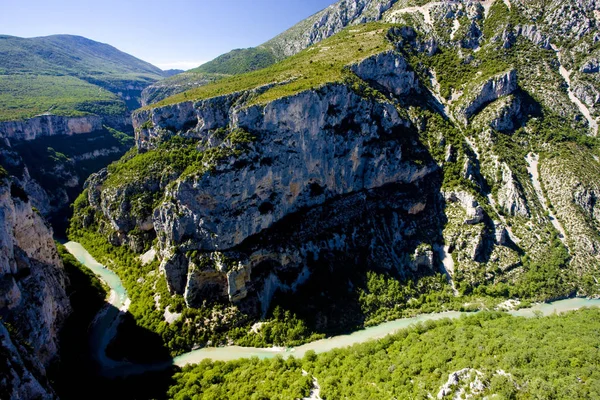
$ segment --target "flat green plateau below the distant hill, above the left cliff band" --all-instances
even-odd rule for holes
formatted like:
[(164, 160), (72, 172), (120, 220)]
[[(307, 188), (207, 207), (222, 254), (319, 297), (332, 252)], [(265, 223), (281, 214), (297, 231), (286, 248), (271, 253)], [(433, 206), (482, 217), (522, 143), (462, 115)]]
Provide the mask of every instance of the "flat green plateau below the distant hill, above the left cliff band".
[(0, 121), (43, 113), (71, 117), (125, 111), (115, 94), (76, 77), (0, 75)]

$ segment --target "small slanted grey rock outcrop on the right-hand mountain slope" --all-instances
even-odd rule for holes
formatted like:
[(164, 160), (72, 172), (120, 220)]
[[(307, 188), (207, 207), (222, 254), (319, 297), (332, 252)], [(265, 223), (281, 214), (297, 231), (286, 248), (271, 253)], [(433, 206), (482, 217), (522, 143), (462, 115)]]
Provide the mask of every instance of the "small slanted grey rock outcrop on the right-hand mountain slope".
[(469, 118), (486, 104), (514, 93), (517, 87), (517, 71), (514, 69), (487, 79), (470, 89), (471, 94), (462, 100), (462, 105), (456, 111), (457, 118), (465, 124), (468, 123)]

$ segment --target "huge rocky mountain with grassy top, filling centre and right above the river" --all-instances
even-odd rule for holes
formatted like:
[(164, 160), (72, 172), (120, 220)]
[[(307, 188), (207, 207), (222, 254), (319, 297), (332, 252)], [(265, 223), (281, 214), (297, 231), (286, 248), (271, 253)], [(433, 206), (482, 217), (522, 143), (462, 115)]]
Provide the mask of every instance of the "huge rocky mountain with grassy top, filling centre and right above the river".
[(137, 323), (177, 354), (598, 295), (595, 2), (335, 7), (295, 36), (327, 39), (136, 111), (88, 180), (70, 235), (127, 260)]

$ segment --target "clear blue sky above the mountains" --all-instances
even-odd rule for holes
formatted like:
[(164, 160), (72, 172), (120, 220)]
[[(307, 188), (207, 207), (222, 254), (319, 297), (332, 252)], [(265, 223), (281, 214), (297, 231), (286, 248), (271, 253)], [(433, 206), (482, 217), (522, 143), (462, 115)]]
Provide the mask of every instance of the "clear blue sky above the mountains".
[(162, 69), (258, 46), (335, 0), (0, 0), (0, 34), (85, 36)]

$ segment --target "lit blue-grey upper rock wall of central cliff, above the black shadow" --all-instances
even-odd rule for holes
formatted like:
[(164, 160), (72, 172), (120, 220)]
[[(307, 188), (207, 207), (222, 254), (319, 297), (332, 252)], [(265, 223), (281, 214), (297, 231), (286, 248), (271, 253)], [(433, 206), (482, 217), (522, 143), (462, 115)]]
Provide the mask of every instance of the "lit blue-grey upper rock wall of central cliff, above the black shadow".
[[(242, 159), (269, 159), (270, 165), (229, 165), (216, 176), (179, 182), (172, 196), (182, 216), (168, 203), (154, 216), (166, 247), (192, 237), (200, 250), (228, 249), (301, 208), (431, 172), (398, 162), (402, 146), (368, 146), (372, 140), (397, 143), (410, 123), (391, 104), (367, 101), (345, 86), (234, 110), (231, 122), (260, 138)], [(227, 204), (235, 204), (236, 218)]]

